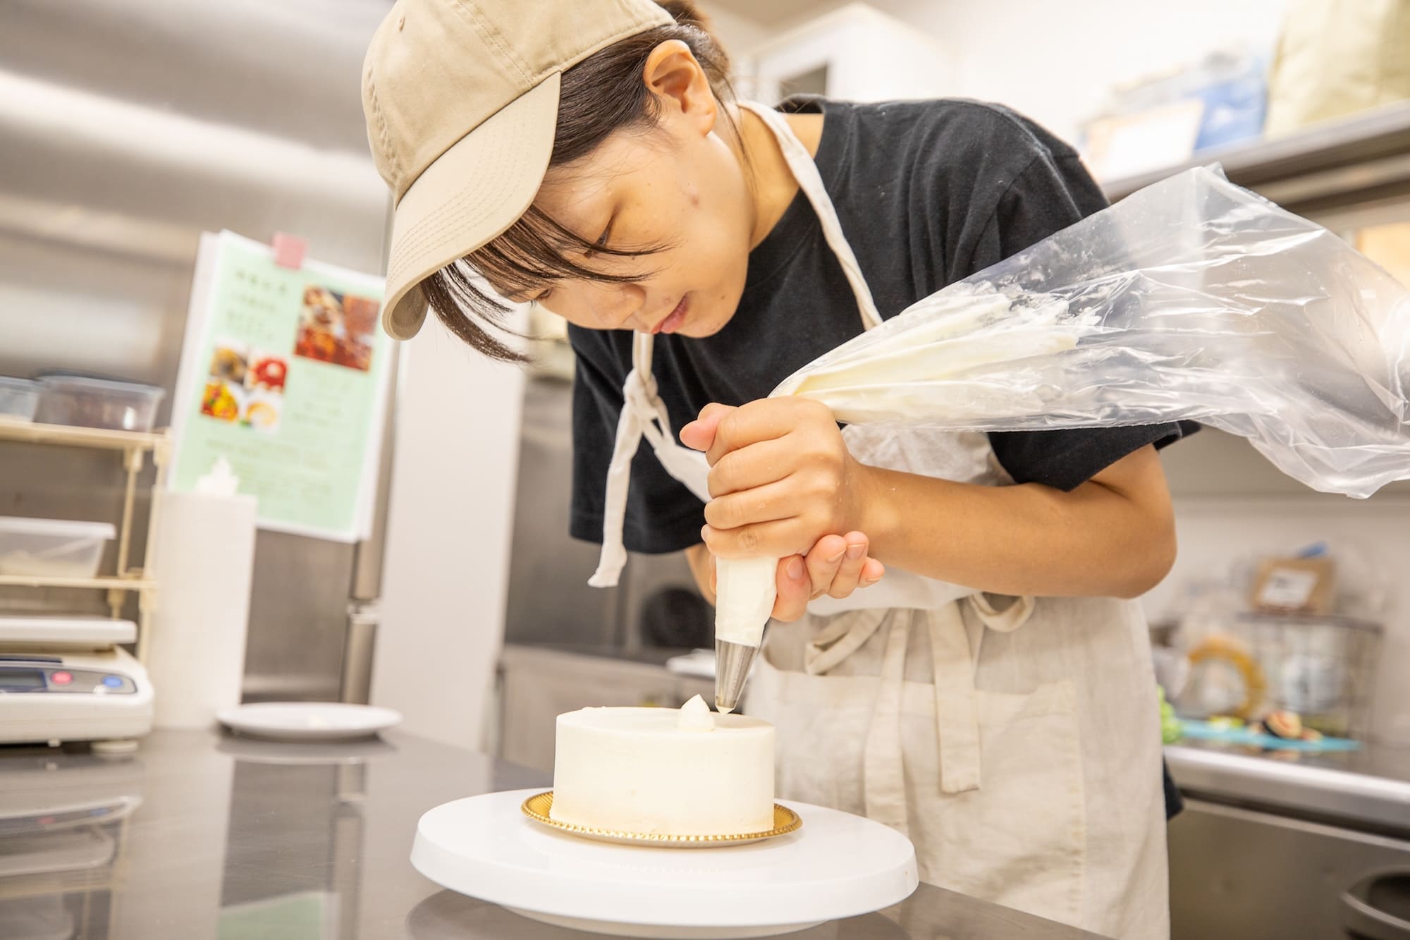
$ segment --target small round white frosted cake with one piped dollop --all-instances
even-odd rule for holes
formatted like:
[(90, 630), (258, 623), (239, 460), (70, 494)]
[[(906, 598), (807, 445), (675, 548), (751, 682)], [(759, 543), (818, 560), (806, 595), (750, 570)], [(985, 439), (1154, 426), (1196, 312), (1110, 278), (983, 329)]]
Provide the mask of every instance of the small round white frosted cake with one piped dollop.
[(558, 716), (550, 817), (588, 828), (732, 836), (774, 827), (774, 725), (674, 709)]

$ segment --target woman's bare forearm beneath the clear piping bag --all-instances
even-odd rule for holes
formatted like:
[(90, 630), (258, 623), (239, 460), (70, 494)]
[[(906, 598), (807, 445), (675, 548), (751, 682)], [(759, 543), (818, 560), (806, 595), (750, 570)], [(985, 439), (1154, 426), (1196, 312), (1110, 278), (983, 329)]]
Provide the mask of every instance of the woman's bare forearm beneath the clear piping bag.
[[(1127, 460), (1155, 460), (1153, 450)], [(1175, 560), (1167, 495), (1127, 491), (1121, 474), (1115, 486), (1093, 480), (1070, 493), (874, 467), (869, 477), (862, 528), (871, 553), (916, 574), (995, 594), (1135, 597)]]

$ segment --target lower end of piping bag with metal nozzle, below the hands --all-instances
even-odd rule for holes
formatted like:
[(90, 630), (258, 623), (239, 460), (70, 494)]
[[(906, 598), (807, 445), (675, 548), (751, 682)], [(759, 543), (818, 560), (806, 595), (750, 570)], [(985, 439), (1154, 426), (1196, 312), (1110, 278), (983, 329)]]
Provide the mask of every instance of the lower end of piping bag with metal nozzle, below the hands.
[(715, 707), (739, 706), (778, 594), (776, 558), (715, 559)]

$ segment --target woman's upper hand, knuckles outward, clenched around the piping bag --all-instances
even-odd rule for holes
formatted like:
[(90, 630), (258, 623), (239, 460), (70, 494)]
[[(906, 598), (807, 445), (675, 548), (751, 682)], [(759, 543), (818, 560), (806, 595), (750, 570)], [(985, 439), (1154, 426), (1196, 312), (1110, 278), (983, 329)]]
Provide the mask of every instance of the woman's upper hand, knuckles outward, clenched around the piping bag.
[(701, 538), (718, 558), (807, 558), (823, 536), (867, 528), (870, 470), (847, 452), (825, 405), (706, 405), (681, 440), (711, 463)]

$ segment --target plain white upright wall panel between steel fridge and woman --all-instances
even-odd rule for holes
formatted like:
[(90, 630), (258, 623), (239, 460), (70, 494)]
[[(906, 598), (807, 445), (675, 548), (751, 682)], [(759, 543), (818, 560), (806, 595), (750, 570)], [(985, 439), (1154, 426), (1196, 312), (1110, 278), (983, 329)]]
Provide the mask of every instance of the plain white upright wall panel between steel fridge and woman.
[(371, 701), (413, 734), (478, 748), (503, 641), (525, 377), (434, 318), (402, 346), (400, 374)]

